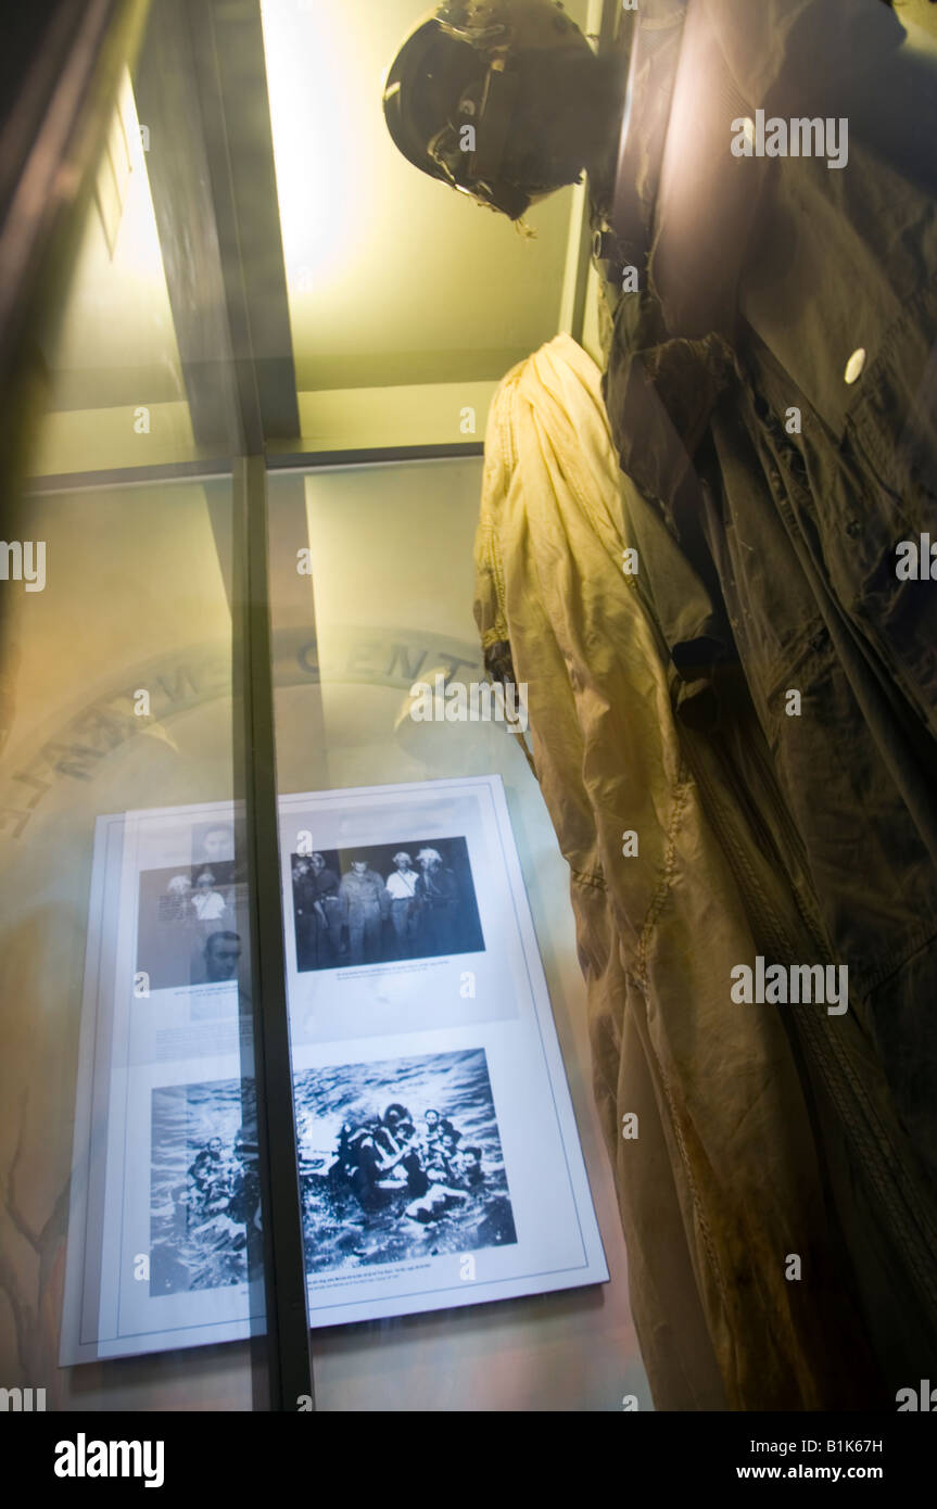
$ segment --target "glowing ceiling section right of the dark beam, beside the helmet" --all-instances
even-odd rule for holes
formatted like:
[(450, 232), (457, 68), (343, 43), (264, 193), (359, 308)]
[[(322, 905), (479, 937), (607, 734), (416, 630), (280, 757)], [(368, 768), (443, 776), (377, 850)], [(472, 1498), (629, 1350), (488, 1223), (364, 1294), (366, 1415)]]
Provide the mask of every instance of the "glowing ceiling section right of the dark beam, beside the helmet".
[(525, 240), (400, 155), (382, 83), (421, 0), (261, 11), (297, 386), (504, 376), (557, 333), (570, 190)]

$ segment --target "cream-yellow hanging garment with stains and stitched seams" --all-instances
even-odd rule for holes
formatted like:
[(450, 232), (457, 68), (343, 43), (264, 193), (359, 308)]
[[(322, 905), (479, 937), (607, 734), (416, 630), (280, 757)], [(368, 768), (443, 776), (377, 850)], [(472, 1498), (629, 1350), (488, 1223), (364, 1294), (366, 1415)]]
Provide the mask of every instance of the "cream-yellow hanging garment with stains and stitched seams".
[(735, 966), (810, 963), (822, 943), (706, 732), (732, 690), (668, 653), (644, 552), (673, 569), (700, 659), (712, 614), (653, 513), (637, 545), (638, 502), (599, 370), (558, 337), (492, 404), (475, 617), (489, 667), (527, 684), (570, 866), (641, 1354), (658, 1408), (881, 1403), (792, 1025), (824, 1040), (834, 1019), (730, 999)]

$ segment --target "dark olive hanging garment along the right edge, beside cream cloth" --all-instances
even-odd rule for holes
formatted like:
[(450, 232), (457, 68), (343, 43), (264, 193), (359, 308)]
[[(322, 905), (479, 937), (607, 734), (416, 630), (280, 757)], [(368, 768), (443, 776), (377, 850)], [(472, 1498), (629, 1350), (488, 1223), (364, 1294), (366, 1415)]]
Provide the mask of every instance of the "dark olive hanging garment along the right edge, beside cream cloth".
[[(774, 804), (849, 972), (856, 1056), (803, 1046), (898, 1388), (937, 1346), (937, 51), (878, 0), (646, 0), (629, 45), (593, 214), (641, 278), (607, 300), (605, 398), (638, 512), (709, 599), (702, 646), (661, 607), (670, 656), (744, 676), (770, 774), (724, 706), (738, 800)], [(771, 155), (771, 119), (816, 119), (824, 152)]]

